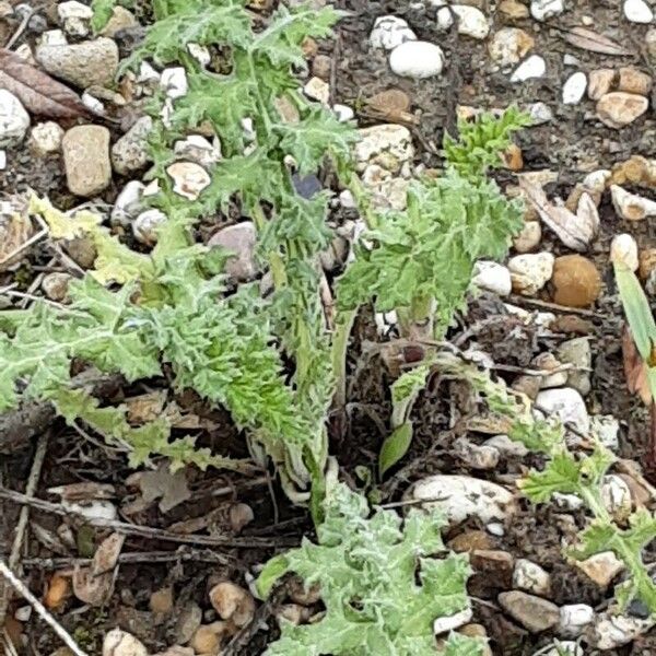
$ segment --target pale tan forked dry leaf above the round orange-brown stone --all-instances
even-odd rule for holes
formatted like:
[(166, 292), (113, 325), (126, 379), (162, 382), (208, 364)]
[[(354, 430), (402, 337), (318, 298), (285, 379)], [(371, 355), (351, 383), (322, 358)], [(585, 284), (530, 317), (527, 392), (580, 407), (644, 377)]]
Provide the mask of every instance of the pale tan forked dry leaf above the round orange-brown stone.
[(519, 187), (540, 219), (565, 246), (579, 253), (588, 249), (599, 227), (599, 214), (588, 194), (582, 194), (576, 214), (574, 214), (564, 206), (550, 202), (542, 187), (524, 176), (519, 177)]

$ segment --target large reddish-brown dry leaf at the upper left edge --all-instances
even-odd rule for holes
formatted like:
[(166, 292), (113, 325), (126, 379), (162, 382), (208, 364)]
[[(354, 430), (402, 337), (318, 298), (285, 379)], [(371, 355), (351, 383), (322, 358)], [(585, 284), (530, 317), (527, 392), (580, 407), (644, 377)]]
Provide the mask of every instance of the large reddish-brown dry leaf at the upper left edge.
[(89, 116), (74, 91), (5, 48), (0, 48), (0, 89), (13, 93), (25, 105), (25, 109), (38, 116)]

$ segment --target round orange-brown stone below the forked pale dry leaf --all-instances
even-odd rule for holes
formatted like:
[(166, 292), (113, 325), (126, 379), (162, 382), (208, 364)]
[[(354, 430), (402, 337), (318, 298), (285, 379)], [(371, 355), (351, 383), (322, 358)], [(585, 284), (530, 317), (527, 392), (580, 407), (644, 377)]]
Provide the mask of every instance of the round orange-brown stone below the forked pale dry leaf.
[(553, 263), (553, 301), (567, 307), (589, 307), (601, 293), (601, 276), (582, 255), (563, 255)]

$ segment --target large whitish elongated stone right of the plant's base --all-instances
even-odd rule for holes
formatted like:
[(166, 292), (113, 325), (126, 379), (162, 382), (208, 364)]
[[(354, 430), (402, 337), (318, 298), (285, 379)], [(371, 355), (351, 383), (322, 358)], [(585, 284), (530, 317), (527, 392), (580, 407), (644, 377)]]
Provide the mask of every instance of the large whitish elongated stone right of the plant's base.
[(425, 500), (422, 507), (443, 511), (449, 525), (459, 524), (467, 517), (478, 517), (483, 524), (503, 522), (517, 511), (512, 492), (491, 481), (468, 476), (430, 476), (415, 482), (405, 497)]

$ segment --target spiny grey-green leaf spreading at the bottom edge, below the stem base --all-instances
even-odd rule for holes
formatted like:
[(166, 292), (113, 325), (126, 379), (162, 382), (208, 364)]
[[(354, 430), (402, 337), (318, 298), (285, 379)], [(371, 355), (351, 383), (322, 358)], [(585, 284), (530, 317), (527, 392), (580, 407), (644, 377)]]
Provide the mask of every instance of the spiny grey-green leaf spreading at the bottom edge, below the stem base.
[[(438, 513), (417, 509), (405, 520), (382, 508), (370, 517), (361, 494), (343, 484), (329, 490), (318, 543), (304, 540), (301, 548), (273, 558), (257, 581), (267, 597), (281, 576), (294, 572), (306, 587), (320, 586), (325, 614), (312, 624), (284, 622), (267, 654), (435, 654), (435, 620), (469, 608), (467, 557), (445, 554), (443, 526)], [(480, 656), (482, 646), (452, 633), (441, 653)]]

